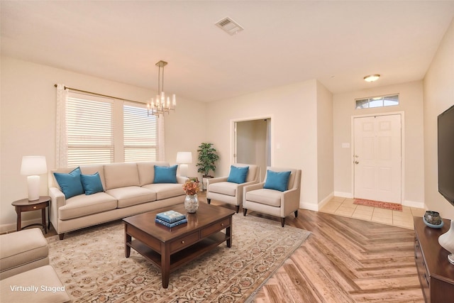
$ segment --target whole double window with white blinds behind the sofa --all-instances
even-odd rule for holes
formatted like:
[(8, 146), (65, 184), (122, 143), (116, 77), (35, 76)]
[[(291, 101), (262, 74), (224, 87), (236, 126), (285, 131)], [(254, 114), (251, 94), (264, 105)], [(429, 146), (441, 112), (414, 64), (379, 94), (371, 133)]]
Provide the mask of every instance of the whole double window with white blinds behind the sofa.
[(66, 126), (68, 166), (158, 158), (157, 117), (145, 105), (70, 92)]

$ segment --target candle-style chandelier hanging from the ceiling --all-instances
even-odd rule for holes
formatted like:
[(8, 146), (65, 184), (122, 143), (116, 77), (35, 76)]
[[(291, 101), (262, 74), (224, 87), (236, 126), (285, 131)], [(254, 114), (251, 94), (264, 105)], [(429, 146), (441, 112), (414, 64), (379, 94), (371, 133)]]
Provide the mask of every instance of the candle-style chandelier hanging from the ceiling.
[[(160, 114), (170, 113), (170, 111), (175, 111), (175, 106), (177, 106), (177, 97), (175, 94), (172, 95), (172, 100), (170, 97), (165, 97), (164, 92), (164, 67), (167, 65), (167, 62), (160, 60), (156, 63), (156, 66), (159, 67), (157, 72), (157, 95), (155, 98), (151, 98), (148, 103), (148, 116), (159, 116)], [(162, 72), (161, 72), (162, 69)]]

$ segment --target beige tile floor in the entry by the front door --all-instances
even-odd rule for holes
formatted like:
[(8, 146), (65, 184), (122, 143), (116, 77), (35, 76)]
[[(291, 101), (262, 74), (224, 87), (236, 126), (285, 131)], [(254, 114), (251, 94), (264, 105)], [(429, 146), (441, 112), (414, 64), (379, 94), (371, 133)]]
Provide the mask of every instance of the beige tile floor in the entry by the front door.
[(402, 206), (402, 208), (402, 211), (392, 211), (353, 204), (353, 199), (349, 198), (333, 197), (320, 211), (409, 229), (414, 228), (413, 216), (424, 216), (426, 212), (426, 209), (415, 207)]

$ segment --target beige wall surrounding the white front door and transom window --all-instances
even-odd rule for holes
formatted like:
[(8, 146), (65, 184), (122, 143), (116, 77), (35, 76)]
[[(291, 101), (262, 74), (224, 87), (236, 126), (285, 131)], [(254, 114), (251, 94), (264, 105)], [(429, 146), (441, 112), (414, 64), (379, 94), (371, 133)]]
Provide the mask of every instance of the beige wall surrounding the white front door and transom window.
[[(379, 80), (380, 81), (380, 80)], [(355, 99), (399, 93), (399, 105), (378, 109), (355, 109)], [(334, 190), (341, 197), (353, 197), (352, 116), (404, 112), (404, 199), (403, 204), (423, 206), (423, 82), (395, 84), (333, 97)], [(350, 148), (342, 148), (349, 143)]]

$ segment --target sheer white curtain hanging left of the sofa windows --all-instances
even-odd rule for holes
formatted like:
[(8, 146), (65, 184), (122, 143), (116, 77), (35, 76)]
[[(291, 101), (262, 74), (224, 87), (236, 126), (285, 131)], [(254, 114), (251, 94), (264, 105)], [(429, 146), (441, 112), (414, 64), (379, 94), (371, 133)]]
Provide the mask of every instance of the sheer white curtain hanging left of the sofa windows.
[(56, 130), (55, 141), (55, 164), (57, 167), (67, 166), (67, 132), (66, 132), (66, 99), (69, 89), (65, 89), (65, 84), (57, 84), (57, 109), (56, 109)]

